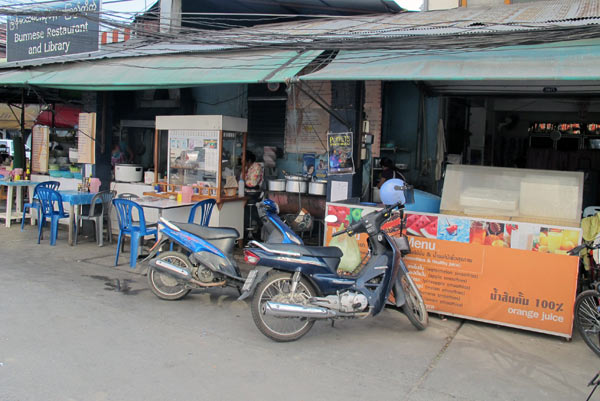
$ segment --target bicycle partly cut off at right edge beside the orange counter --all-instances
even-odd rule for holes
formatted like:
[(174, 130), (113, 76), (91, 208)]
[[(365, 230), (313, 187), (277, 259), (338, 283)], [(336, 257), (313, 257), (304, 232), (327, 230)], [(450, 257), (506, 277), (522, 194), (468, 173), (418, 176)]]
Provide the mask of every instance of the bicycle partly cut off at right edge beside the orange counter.
[(575, 327), (587, 346), (600, 356), (600, 264), (593, 255), (594, 250), (600, 249), (600, 243), (583, 243), (571, 249), (569, 254), (579, 255), (583, 249), (586, 249), (590, 256), (589, 277), (582, 280), (582, 287), (588, 289), (582, 291), (575, 299)]

